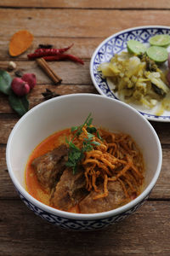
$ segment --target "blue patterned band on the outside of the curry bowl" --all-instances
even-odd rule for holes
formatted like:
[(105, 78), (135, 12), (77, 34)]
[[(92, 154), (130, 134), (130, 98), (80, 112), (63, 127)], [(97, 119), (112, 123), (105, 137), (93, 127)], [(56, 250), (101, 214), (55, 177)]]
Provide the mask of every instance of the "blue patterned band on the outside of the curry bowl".
[(122, 219), (127, 218), (130, 214), (135, 212), (139, 207), (144, 204), (144, 201), (148, 198), (148, 196), (145, 197), (143, 201), (139, 202), (139, 204), (127, 210), (127, 212), (122, 212), (111, 218), (99, 218), (96, 220), (77, 220), (74, 218), (59, 217), (50, 212), (46, 212), (32, 204), (31, 201), (28, 201), (26, 197), (20, 193), (19, 190), (17, 190), (17, 192), (20, 195), (21, 200), (24, 201), (26, 206), (29, 207), (33, 212), (35, 212), (35, 214), (47, 220), (50, 224), (54, 224), (67, 230), (99, 230), (111, 224), (116, 224), (117, 222), (122, 221)]

